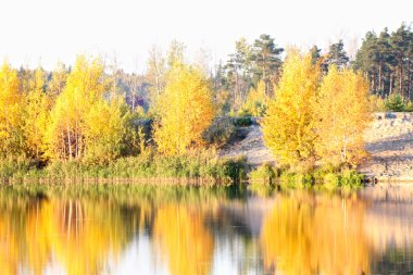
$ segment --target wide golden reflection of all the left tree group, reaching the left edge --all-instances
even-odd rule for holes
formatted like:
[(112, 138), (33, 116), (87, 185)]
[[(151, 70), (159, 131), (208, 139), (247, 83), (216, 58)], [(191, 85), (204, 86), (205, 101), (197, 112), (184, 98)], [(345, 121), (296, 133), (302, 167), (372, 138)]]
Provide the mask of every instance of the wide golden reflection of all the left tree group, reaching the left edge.
[[(52, 257), (66, 274), (99, 274), (132, 237), (121, 209), (104, 201), (54, 200), (0, 211), (1, 274), (42, 274)], [(7, 210), (7, 211), (4, 211)]]

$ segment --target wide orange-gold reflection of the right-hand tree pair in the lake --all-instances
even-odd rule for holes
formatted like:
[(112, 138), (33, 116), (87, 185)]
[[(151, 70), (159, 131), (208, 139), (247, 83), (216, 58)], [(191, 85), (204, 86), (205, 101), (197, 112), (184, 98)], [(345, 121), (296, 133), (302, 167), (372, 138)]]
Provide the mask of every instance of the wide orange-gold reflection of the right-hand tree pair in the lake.
[(367, 274), (364, 205), (338, 197), (279, 198), (265, 217), (265, 267), (283, 274)]

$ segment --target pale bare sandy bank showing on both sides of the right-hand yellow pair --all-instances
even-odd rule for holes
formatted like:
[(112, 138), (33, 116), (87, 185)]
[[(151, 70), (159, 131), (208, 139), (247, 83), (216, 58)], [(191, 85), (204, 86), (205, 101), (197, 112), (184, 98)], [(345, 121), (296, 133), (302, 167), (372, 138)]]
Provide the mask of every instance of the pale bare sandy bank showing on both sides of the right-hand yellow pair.
[[(245, 132), (246, 137), (225, 146), (221, 155), (245, 154), (254, 166), (275, 163), (261, 127), (251, 125)], [(379, 182), (413, 182), (413, 113), (375, 113), (364, 138), (370, 158), (359, 167), (361, 173)]]

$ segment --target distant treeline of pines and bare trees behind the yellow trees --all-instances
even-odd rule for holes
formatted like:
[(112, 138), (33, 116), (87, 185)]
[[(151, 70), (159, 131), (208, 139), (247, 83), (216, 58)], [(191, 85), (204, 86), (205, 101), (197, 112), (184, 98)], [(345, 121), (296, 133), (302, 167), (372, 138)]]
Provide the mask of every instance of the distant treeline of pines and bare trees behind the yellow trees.
[[(185, 60), (185, 45), (174, 40), (166, 52), (153, 46), (149, 50), (146, 71), (142, 74), (127, 73), (116, 65), (105, 67), (108, 78), (114, 79), (113, 89), (125, 96), (127, 104), (135, 110), (145, 110), (153, 105), (154, 98), (165, 87), (166, 73), (176, 60)], [(252, 43), (246, 38), (235, 42), (235, 51), (228, 59), (210, 67), (209, 53), (201, 51), (195, 65), (202, 68), (209, 76), (215, 91), (222, 91), (227, 97), (226, 111), (240, 111), (251, 90), (256, 89), (262, 82), (265, 95), (271, 96), (278, 82), (285, 49), (276, 45), (270, 35), (261, 35)], [(326, 73), (328, 66), (352, 67), (362, 71), (370, 80), (372, 93), (386, 98), (391, 93), (412, 99), (413, 89), (413, 33), (411, 27), (402, 24), (395, 32), (385, 28), (379, 34), (368, 32), (355, 54), (350, 60), (345, 51), (345, 43), (339, 40), (331, 43), (327, 52), (321, 48), (311, 48), (313, 62), (318, 61)], [(111, 62), (108, 62), (111, 63)], [(64, 86), (64, 74), (72, 67), (60, 64), (54, 72), (43, 72), (45, 87), (52, 93), (59, 93)], [(21, 67), (18, 77), (33, 78), (36, 70)], [(59, 74), (60, 76), (54, 76)], [(54, 77), (53, 77), (54, 76)], [(54, 79), (53, 79), (54, 78)], [(61, 82), (61, 83), (59, 83)]]

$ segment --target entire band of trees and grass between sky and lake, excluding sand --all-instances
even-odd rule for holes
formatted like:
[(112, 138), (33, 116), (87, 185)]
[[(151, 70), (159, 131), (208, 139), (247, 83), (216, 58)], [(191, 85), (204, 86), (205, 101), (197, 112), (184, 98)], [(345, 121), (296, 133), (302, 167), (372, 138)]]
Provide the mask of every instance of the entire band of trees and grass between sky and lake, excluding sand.
[(218, 149), (253, 117), (263, 117), (276, 170), (352, 170), (365, 157), (361, 133), (370, 111), (411, 109), (412, 32), (405, 25), (386, 32), (368, 33), (354, 60), (341, 40), (324, 54), (314, 46), (284, 60), (271, 36), (241, 38), (214, 72), (208, 54), (188, 62), (178, 41), (165, 54), (153, 47), (141, 75), (85, 55), (52, 72), (4, 62), (0, 177), (237, 182), (249, 170), (246, 158), (222, 159)]

